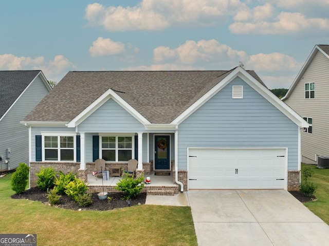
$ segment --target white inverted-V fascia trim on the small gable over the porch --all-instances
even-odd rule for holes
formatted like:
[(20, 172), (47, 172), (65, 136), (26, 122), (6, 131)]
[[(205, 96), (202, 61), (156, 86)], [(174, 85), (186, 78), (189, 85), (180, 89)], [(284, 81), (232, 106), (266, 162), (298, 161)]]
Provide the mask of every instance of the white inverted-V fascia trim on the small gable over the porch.
[(126, 111), (128, 111), (133, 117), (135, 117), (142, 124), (151, 124), (147, 119), (145, 119), (136, 109), (126, 103), (121, 97), (118, 96), (112, 89), (108, 89), (102, 96), (100, 96), (96, 101), (85, 108), (77, 117), (71, 120), (67, 126), (76, 127), (85, 119), (87, 119), (93, 112), (95, 112), (100, 106), (102, 106), (107, 100), (113, 99)]

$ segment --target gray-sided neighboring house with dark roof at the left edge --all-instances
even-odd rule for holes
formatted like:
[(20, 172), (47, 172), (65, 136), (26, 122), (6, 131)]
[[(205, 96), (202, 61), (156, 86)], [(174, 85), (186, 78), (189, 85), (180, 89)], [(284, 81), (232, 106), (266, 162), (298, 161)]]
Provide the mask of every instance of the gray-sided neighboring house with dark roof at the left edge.
[(20, 121), (50, 91), (42, 71), (0, 71), (0, 171), (29, 163), (29, 132)]

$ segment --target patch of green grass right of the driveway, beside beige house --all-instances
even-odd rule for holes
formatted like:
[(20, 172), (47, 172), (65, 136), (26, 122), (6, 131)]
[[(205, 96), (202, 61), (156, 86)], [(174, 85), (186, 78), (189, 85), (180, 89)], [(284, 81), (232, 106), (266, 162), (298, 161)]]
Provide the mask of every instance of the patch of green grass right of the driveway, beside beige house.
[(310, 211), (329, 224), (329, 169), (317, 168), (316, 165), (302, 164), (302, 170), (310, 167), (314, 171), (309, 182), (315, 183), (318, 188), (315, 193), (317, 200), (304, 203)]

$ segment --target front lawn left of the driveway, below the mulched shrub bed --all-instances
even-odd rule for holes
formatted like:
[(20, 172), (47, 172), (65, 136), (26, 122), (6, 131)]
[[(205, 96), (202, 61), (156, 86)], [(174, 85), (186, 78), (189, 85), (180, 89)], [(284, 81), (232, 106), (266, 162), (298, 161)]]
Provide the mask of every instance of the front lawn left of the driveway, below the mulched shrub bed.
[(190, 207), (58, 209), (11, 199), (11, 176), (0, 179), (0, 233), (36, 233), (38, 245), (197, 245)]

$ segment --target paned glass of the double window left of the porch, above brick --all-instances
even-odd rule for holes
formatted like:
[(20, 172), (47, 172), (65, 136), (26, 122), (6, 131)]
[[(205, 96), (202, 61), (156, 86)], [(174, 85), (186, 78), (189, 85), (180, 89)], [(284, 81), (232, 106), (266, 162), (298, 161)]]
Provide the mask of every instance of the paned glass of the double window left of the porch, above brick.
[(44, 136), (45, 161), (75, 161), (74, 136)]

